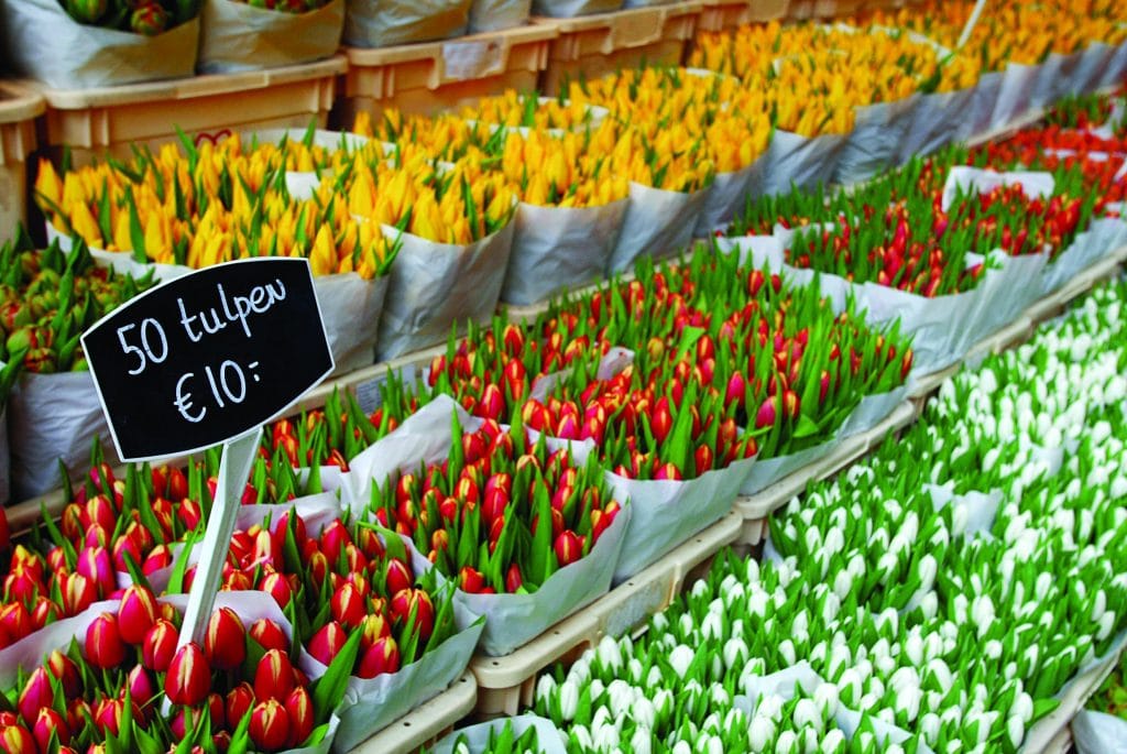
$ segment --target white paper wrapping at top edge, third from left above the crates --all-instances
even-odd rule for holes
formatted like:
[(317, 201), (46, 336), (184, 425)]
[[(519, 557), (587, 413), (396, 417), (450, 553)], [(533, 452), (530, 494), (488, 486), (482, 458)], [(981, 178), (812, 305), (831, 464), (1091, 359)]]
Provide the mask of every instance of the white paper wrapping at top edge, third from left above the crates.
[(462, 36), (470, 0), (347, 0), (345, 44), (390, 47)]

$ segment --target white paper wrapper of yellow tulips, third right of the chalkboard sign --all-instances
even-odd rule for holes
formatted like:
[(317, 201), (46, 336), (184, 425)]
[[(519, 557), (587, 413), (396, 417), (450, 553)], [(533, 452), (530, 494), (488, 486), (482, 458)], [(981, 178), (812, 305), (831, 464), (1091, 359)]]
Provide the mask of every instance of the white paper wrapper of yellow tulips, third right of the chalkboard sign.
[(593, 207), (516, 209), (513, 254), (500, 299), (525, 305), (602, 278), (629, 198)]

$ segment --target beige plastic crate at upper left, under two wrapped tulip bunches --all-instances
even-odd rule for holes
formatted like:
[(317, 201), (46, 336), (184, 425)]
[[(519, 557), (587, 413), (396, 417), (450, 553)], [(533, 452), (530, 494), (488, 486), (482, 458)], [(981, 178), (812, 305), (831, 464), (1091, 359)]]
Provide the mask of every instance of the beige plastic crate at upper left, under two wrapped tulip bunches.
[(131, 154), (130, 144), (156, 147), (177, 139), (179, 126), (193, 138), (224, 131), (323, 127), (345, 71), (340, 55), (316, 63), (267, 71), (197, 76), (104, 89), (43, 88), (47, 103), (46, 147), (71, 147), (76, 165), (109, 152)]

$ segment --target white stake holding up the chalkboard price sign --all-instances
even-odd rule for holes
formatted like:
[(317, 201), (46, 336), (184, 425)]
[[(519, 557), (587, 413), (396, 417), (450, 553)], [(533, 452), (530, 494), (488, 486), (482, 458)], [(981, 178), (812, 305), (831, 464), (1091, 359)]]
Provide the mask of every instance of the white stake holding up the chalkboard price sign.
[[(219, 592), (220, 577), (223, 575), (223, 564), (231, 547), (234, 534), (234, 522), (242, 505), (242, 490), (250, 476), (261, 428), (252, 429), (245, 435), (223, 443), (223, 458), (219, 464), (219, 481), (215, 485), (215, 499), (212, 502), (211, 515), (207, 517), (207, 530), (201, 544), (199, 560), (196, 565), (196, 577), (188, 593), (188, 606), (184, 611), (184, 624), (180, 627), (180, 640), (177, 648), (189, 641), (203, 647), (207, 621), (211, 620), (215, 594)], [(187, 557), (187, 553), (184, 553)]]

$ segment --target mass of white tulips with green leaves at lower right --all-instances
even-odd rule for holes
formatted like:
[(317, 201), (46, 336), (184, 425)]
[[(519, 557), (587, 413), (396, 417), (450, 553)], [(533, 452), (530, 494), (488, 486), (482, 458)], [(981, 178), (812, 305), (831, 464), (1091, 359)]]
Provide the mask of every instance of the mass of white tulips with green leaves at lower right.
[(1013, 752), (1127, 628), (1127, 284), (962, 372), (898, 442), (543, 675), (570, 752)]

